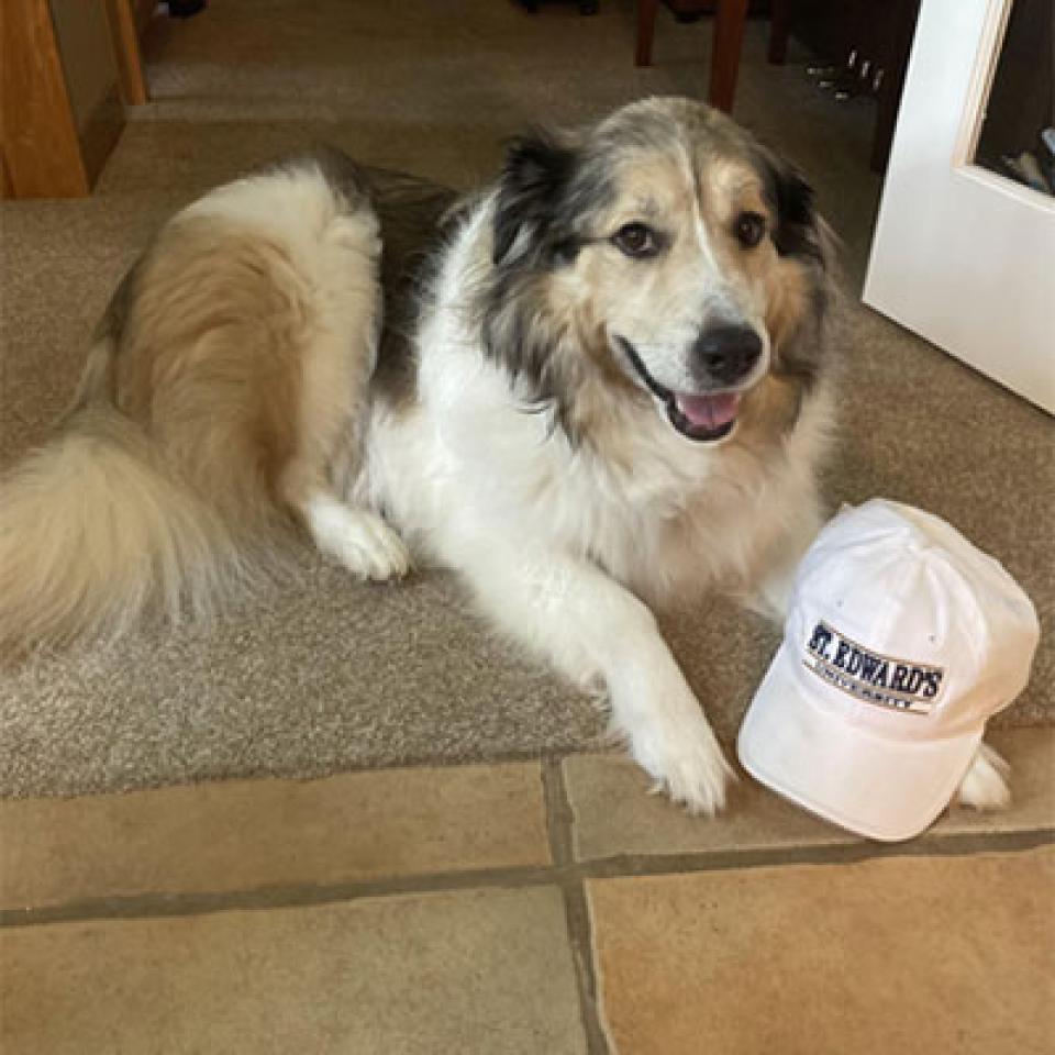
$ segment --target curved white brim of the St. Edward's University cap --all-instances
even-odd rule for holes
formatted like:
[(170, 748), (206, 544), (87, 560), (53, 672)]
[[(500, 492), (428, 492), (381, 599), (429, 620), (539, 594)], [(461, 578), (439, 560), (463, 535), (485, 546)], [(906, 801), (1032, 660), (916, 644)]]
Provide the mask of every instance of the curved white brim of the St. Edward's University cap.
[(744, 768), (860, 835), (884, 842), (919, 835), (948, 804), (982, 730), (937, 741), (886, 738), (818, 704), (795, 663), (781, 645), (752, 701), (736, 742)]

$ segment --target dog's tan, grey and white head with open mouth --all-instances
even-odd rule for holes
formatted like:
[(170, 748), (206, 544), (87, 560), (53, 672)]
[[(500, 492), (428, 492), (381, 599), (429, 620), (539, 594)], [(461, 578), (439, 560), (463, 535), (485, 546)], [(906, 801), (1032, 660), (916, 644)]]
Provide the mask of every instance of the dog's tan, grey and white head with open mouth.
[(765, 378), (817, 370), (829, 278), (812, 199), (685, 99), (518, 140), (495, 200), (488, 347), (562, 419), (592, 373), (651, 393), (689, 440), (722, 440)]

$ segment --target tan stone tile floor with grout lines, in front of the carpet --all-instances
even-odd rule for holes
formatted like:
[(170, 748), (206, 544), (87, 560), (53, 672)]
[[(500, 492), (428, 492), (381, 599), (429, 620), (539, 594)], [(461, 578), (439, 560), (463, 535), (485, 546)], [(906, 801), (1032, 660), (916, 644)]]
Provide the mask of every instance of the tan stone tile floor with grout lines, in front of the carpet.
[(1055, 1041), (1055, 731), (865, 843), (622, 758), (0, 804), (0, 1050), (985, 1053)]

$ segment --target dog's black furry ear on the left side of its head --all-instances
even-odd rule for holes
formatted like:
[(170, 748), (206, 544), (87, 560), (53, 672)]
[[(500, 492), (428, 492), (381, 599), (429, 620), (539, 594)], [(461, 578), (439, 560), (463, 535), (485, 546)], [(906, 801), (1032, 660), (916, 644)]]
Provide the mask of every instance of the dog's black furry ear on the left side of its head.
[(536, 131), (513, 140), (495, 207), (496, 266), (536, 256), (560, 213), (575, 170), (575, 149)]

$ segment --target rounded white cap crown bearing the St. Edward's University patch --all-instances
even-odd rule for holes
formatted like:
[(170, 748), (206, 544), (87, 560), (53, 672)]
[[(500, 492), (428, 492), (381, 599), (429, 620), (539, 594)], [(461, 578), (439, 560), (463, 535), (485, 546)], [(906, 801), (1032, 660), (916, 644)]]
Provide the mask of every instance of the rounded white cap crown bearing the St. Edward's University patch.
[(978, 729), (1029, 680), (1036, 612), (992, 557), (937, 517), (846, 509), (796, 577), (785, 629), (818, 706), (891, 738)]

